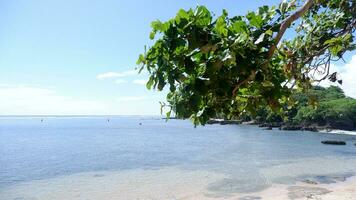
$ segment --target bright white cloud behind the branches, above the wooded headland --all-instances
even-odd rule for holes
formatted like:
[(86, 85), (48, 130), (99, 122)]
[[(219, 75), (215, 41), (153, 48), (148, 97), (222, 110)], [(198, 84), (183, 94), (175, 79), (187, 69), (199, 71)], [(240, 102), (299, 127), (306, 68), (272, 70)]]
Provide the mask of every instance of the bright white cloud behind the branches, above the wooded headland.
[(346, 96), (356, 98), (356, 55), (353, 55), (351, 60), (343, 66), (331, 65), (330, 72), (338, 72), (338, 78), (343, 82), (342, 85), (328, 80), (322, 81), (320, 85), (324, 87), (337, 85), (344, 90)]

